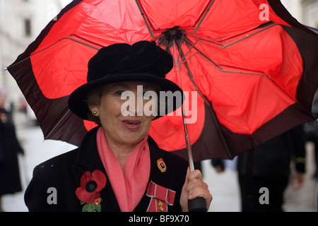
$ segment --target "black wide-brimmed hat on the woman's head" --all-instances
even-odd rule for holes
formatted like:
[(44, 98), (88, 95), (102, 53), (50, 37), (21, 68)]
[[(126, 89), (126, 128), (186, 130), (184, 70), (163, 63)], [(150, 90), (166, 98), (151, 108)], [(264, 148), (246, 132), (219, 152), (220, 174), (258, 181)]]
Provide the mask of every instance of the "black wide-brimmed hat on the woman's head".
[[(158, 84), (160, 91), (165, 92), (178, 91), (183, 101), (182, 89), (165, 78), (172, 67), (172, 56), (158, 47), (155, 42), (141, 41), (132, 45), (119, 43), (103, 47), (88, 62), (88, 82), (71, 93), (69, 109), (81, 119), (88, 120), (90, 112), (87, 105), (88, 93), (102, 85), (126, 81)], [(181, 106), (178, 101), (165, 100), (165, 102), (167, 107), (164, 114), (173, 112)], [(160, 116), (163, 116), (162, 110), (158, 112), (158, 117)]]

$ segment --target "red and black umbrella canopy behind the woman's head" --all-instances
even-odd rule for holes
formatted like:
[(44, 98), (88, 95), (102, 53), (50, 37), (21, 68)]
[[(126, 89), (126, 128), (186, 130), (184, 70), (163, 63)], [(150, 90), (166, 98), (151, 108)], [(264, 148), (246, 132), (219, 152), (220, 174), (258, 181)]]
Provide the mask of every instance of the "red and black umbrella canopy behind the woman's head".
[[(186, 91), (194, 161), (232, 158), (314, 119), (318, 36), (279, 1), (74, 0), (8, 66), (45, 138), (81, 143), (95, 125), (67, 101), (86, 83), (88, 60), (101, 47), (140, 40), (174, 57), (167, 78)], [(178, 112), (153, 121), (149, 133), (187, 157)]]

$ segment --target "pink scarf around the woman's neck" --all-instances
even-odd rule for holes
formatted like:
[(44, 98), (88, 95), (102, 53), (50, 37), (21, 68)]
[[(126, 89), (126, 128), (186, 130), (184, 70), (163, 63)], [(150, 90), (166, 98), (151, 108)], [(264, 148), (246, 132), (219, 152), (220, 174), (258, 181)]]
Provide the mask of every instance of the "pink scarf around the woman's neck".
[(134, 211), (146, 191), (151, 169), (147, 139), (148, 135), (127, 157), (123, 174), (119, 161), (107, 144), (104, 129), (102, 127), (98, 129), (98, 153), (122, 212)]

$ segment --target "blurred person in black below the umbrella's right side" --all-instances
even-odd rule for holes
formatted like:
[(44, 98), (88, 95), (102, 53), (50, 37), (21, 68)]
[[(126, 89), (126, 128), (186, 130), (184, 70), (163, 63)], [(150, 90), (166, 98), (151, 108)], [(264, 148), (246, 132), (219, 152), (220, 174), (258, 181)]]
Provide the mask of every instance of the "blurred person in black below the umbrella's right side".
[[(294, 170), (290, 169), (292, 160)], [(294, 189), (305, 184), (305, 135), (302, 125), (239, 155), (237, 170), (243, 212), (283, 211), (283, 193), (288, 182)], [(267, 200), (261, 201), (262, 198)]]

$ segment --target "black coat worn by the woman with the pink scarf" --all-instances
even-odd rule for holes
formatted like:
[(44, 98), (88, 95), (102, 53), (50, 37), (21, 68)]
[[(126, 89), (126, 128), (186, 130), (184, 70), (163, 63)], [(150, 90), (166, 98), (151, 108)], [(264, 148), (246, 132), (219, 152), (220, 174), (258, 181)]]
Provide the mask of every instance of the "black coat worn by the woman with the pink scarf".
[[(35, 167), (33, 179), (25, 191), (25, 203), (30, 211), (81, 211), (83, 205), (76, 197), (75, 191), (80, 186), (83, 173), (93, 172), (95, 169), (102, 171), (107, 178), (105, 188), (100, 191), (102, 211), (120, 211), (112, 185), (98, 155), (97, 130), (98, 127), (88, 131), (79, 148), (53, 157)], [(155, 184), (176, 191), (175, 202), (173, 206), (168, 207), (168, 211), (181, 211), (179, 198), (187, 173), (187, 162), (158, 148), (151, 137), (148, 138), (148, 145), (151, 154), (149, 182), (153, 181)], [(161, 172), (157, 166), (157, 160), (160, 158), (165, 161), (166, 172)], [(48, 191), (50, 187), (57, 191), (57, 204), (47, 202), (51, 194), (51, 191)], [(134, 211), (146, 212), (150, 201), (151, 198), (146, 196), (145, 191)]]

